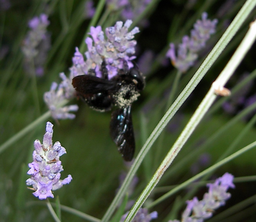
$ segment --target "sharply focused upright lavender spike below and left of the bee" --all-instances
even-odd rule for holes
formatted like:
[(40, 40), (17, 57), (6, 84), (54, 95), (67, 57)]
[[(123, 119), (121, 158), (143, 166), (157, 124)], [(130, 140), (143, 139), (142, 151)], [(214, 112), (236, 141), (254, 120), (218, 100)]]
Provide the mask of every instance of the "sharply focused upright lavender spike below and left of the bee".
[(46, 123), (46, 133), (43, 137), (43, 144), (36, 139), (34, 141), (33, 162), (29, 164), (27, 174), (31, 178), (27, 179), (28, 186), (33, 186), (34, 196), (39, 199), (53, 198), (52, 191), (60, 189), (64, 184), (69, 184), (72, 176), (60, 179), (60, 172), (63, 171), (60, 156), (66, 154), (66, 149), (57, 141), (53, 144), (53, 124)]

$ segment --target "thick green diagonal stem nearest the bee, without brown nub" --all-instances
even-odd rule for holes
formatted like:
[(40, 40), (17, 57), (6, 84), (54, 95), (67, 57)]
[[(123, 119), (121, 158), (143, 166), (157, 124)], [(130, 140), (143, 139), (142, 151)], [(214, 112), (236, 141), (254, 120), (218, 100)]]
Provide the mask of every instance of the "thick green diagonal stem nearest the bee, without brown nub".
[[(131, 183), (133, 176), (135, 175), (140, 164), (142, 163), (142, 160), (144, 159), (145, 155), (149, 151), (150, 147), (152, 147), (154, 141), (157, 139), (157, 137), (163, 131), (164, 127), (166, 127), (167, 123), (170, 121), (170, 119), (173, 117), (173, 115), (181, 107), (183, 102), (187, 99), (187, 97), (195, 89), (196, 85), (200, 82), (200, 80), (203, 78), (203, 76), (206, 74), (206, 72), (212, 66), (212, 64), (217, 59), (217, 57), (227, 46), (229, 41), (233, 38), (233, 36), (236, 34), (236, 32), (242, 26), (243, 22), (246, 20), (246, 18), (248, 17), (250, 12), (253, 10), (255, 5), (256, 5), (255, 0), (247, 0), (246, 1), (246, 3), (243, 5), (242, 9), (236, 15), (235, 19), (232, 21), (232, 23), (227, 28), (227, 30), (225, 31), (223, 36), (217, 42), (217, 44), (213, 48), (213, 50), (209, 53), (209, 55), (207, 56), (205, 61), (202, 63), (202, 65), (199, 67), (199, 69), (197, 70), (195, 75), (192, 77), (192, 79), (186, 85), (184, 90), (180, 93), (178, 98), (173, 102), (172, 106), (169, 108), (169, 110), (166, 112), (166, 114), (164, 114), (163, 118), (157, 124), (156, 128), (154, 128), (153, 132), (150, 134), (149, 138), (147, 139), (147, 141), (143, 145), (142, 149), (140, 150), (137, 158), (134, 160), (134, 163), (133, 163), (130, 171), (128, 172), (126, 178), (124, 179), (122, 186), (120, 187), (119, 191), (117, 192), (117, 194), (116, 194), (115, 198), (113, 199), (112, 203), (110, 204), (109, 208), (107, 209), (107, 212), (103, 216), (102, 222), (109, 221), (109, 219), (112, 216), (117, 205), (120, 203), (121, 198), (124, 196), (126, 189), (128, 188), (129, 184)], [(135, 214), (133, 214), (133, 216), (134, 215)]]

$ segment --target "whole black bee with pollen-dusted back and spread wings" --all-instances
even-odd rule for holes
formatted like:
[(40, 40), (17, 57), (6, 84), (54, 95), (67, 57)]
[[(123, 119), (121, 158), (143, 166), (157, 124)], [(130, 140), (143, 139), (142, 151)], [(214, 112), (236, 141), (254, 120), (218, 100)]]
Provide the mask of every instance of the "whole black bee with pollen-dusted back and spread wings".
[(78, 75), (72, 81), (77, 94), (94, 110), (104, 112), (113, 106), (118, 108), (112, 112), (110, 135), (125, 161), (131, 161), (135, 151), (131, 105), (145, 85), (142, 73), (135, 63), (133, 65), (129, 69), (124, 61), (124, 68), (109, 80), (103, 60), (103, 78), (96, 77), (91, 69), (87, 75)]

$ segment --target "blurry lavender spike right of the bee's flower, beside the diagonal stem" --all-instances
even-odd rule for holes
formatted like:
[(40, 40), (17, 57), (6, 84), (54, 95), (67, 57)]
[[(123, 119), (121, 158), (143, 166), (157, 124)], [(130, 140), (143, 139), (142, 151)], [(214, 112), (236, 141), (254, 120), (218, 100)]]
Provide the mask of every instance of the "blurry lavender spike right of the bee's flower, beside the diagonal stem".
[(194, 29), (189, 36), (182, 38), (182, 43), (179, 44), (177, 51), (173, 43), (170, 43), (170, 49), (166, 53), (173, 66), (179, 71), (185, 73), (197, 60), (197, 53), (205, 47), (206, 41), (210, 35), (215, 33), (217, 19), (207, 19), (207, 13), (202, 14), (202, 20), (197, 20), (194, 24)]

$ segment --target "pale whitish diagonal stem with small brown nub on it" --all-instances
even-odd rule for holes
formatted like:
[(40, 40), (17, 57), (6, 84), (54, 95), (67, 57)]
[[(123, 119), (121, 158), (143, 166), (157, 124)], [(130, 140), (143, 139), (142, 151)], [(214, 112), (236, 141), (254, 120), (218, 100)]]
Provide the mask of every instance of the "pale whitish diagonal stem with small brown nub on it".
[(147, 197), (153, 191), (154, 187), (159, 182), (160, 178), (163, 176), (166, 169), (170, 166), (173, 159), (177, 156), (177, 154), (179, 153), (183, 145), (186, 143), (187, 139), (190, 137), (190, 135), (195, 130), (199, 122), (202, 120), (206, 112), (209, 110), (210, 106), (213, 104), (215, 98), (217, 97), (215, 94), (216, 88), (224, 87), (224, 85), (227, 83), (227, 80), (229, 80), (229, 78), (231, 77), (231, 75), (233, 74), (237, 66), (240, 64), (240, 62), (244, 58), (247, 51), (252, 46), (253, 42), (255, 41), (255, 38), (256, 38), (256, 21), (250, 24), (249, 31), (246, 33), (245, 38), (243, 38), (242, 42), (240, 43), (239, 47), (233, 54), (232, 58), (227, 63), (226, 67), (223, 69), (223, 71), (217, 77), (215, 82), (212, 84), (210, 90), (207, 92), (205, 98), (200, 103), (199, 107), (196, 109), (195, 113), (191, 117), (190, 121), (187, 123), (186, 127), (183, 129), (179, 138), (176, 140), (173, 147), (170, 149), (170, 151), (168, 152), (168, 154), (160, 164), (159, 168), (156, 170), (152, 179), (144, 188), (142, 194), (134, 203), (132, 209), (130, 210), (124, 222), (132, 221), (134, 216), (142, 207), (142, 204), (146, 201)]

